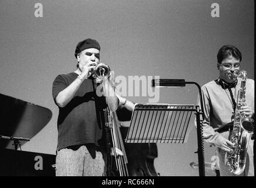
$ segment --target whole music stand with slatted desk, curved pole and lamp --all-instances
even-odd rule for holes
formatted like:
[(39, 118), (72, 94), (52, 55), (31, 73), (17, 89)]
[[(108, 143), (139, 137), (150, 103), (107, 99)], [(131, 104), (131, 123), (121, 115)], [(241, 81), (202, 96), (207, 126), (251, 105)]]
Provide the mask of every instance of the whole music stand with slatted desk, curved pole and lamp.
[[(196, 82), (184, 79), (153, 79), (152, 87), (184, 87), (194, 84), (199, 90), (200, 106), (137, 103), (132, 112), (127, 143), (184, 143), (187, 142), (187, 128), (192, 112), (195, 112), (198, 141), (199, 175), (205, 176), (204, 148), (200, 115), (204, 119), (201, 87)], [(200, 109), (201, 108), (201, 109)], [(150, 113), (151, 112), (151, 113)], [(159, 113), (160, 112), (160, 113)], [(185, 117), (185, 118), (184, 118)], [(184, 121), (185, 119), (185, 121)], [(149, 124), (148, 124), (149, 123)]]

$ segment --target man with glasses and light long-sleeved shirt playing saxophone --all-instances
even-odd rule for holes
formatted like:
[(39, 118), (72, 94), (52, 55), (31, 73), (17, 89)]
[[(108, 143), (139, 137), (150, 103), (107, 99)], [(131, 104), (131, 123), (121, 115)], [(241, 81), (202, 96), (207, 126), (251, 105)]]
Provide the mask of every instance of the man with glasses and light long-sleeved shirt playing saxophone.
[[(235, 76), (240, 71), (242, 55), (232, 45), (224, 45), (217, 54), (217, 69), (220, 75), (217, 79), (202, 86), (202, 102), (204, 119), (201, 122), (203, 138), (215, 146), (218, 157), (216, 169), (220, 176), (237, 176), (230, 172), (227, 163), (227, 153), (234, 150), (234, 143), (229, 137), (234, 124), (234, 114), (241, 79)], [(198, 98), (198, 104), (200, 104)], [(248, 117), (254, 116), (254, 80), (246, 82), (246, 104), (240, 112)], [(250, 139), (247, 149), (245, 170), (239, 176), (254, 176), (253, 140)]]

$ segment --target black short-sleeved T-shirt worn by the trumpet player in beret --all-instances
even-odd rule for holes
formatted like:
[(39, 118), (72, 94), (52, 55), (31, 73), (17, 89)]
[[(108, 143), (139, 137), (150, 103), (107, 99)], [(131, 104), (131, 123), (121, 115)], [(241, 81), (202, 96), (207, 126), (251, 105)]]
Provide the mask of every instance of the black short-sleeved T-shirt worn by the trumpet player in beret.
[[(78, 74), (75, 72), (56, 76), (52, 96), (56, 103), (58, 93), (67, 88)], [(68, 146), (94, 143), (103, 146), (102, 125), (105, 97), (97, 96), (95, 79), (85, 79), (74, 98), (64, 107), (59, 107), (58, 150)]]

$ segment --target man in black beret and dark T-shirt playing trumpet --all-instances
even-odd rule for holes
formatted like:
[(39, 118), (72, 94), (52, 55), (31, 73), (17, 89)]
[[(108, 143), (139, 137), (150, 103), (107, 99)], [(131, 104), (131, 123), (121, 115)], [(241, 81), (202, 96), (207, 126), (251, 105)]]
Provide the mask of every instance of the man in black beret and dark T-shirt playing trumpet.
[(79, 42), (75, 49), (77, 70), (58, 75), (53, 82), (52, 96), (59, 108), (56, 176), (105, 175), (103, 109), (108, 103), (111, 111), (116, 110), (119, 99), (106, 75), (101, 75), (105, 97), (95, 92), (100, 50), (94, 39)]

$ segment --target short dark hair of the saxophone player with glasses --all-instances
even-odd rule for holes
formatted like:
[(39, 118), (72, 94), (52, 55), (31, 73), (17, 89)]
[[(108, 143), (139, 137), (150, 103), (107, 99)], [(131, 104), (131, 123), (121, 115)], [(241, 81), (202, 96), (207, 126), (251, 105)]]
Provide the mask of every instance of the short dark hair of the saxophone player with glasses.
[(235, 59), (238, 59), (240, 62), (242, 61), (242, 54), (241, 52), (232, 45), (225, 45), (222, 46), (218, 52), (217, 59), (218, 63), (221, 63), (224, 59), (228, 58), (229, 56), (233, 56)]

